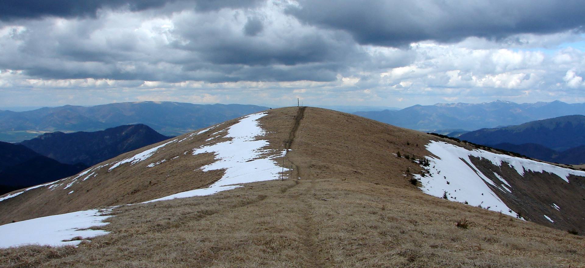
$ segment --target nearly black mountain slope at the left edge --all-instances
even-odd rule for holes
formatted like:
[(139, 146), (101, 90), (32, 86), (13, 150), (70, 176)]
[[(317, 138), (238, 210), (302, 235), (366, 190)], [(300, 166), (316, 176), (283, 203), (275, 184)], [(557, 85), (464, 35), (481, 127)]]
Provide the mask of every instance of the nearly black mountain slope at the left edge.
[(0, 142), (0, 194), (71, 176), (87, 167), (59, 163), (24, 145)]

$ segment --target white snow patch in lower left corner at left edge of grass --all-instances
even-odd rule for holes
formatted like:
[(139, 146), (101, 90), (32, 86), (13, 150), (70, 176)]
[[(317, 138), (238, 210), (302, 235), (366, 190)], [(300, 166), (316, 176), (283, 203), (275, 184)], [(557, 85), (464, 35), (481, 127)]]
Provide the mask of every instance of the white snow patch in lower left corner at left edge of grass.
[(111, 209), (101, 212), (98, 209), (90, 209), (0, 225), (2, 238), (0, 239), (0, 248), (26, 244), (78, 245), (81, 240), (63, 240), (70, 240), (77, 236), (92, 238), (109, 233), (103, 230), (86, 229), (91, 226), (107, 225), (107, 222), (102, 221), (109, 217), (104, 215), (108, 212), (111, 212)]

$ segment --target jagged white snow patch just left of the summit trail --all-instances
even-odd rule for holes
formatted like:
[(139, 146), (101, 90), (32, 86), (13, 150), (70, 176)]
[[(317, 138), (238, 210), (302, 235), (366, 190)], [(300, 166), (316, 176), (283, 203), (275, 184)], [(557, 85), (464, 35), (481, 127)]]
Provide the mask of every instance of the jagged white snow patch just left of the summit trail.
[[(201, 170), (225, 169), (225, 173), (221, 179), (209, 185), (208, 188), (185, 191), (147, 202), (215, 194), (219, 191), (240, 187), (240, 185), (233, 184), (278, 179), (280, 176), (279, 173), (283, 169), (278, 166), (276, 161), (271, 159), (284, 156), (286, 151), (273, 153), (271, 150), (262, 149), (264, 146), (269, 145), (269, 142), (267, 140), (255, 139), (257, 136), (263, 136), (265, 134), (257, 122), (258, 119), (265, 115), (267, 115), (265, 112), (248, 115), (238, 123), (222, 130), (222, 132), (227, 132), (225, 138), (232, 138), (229, 141), (202, 146), (193, 150), (193, 154), (215, 153), (215, 159), (217, 161), (201, 167)], [(259, 158), (264, 154), (269, 154), (269, 156)], [(284, 170), (286, 171), (288, 169)]]

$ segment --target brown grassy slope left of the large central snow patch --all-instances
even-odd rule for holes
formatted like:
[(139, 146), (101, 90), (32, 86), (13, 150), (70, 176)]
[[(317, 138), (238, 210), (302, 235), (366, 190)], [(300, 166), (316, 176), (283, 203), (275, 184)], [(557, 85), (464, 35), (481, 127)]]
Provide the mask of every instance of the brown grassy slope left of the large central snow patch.
[[(112, 171), (108, 171), (109, 166), (102, 167), (97, 170), (96, 177), (88, 178), (85, 181), (82, 181), (85, 176), (80, 177), (77, 183), (65, 190), (64, 187), (76, 176), (64, 181), (60, 187), (53, 189), (41, 187), (2, 201), (0, 203), (0, 224), (82, 209), (143, 202), (181, 191), (205, 187), (219, 180), (223, 171), (203, 172), (199, 170), (199, 167), (214, 162), (214, 156), (211, 153), (194, 156), (191, 153), (192, 149), (205, 145), (208, 143), (205, 140), (210, 138), (208, 135), (225, 129), (235, 122), (238, 121), (225, 122), (204, 135), (192, 138), (187, 138), (187, 135), (178, 136), (173, 139), (187, 139), (181, 143), (170, 143), (159, 149), (149, 159), (133, 165), (122, 164)], [(226, 139), (216, 138), (212, 142), (223, 140)], [(167, 141), (147, 147), (158, 146)], [(136, 153), (143, 152), (147, 147), (122, 154), (115, 159), (95, 166), (132, 157)], [(154, 167), (147, 167), (150, 163), (161, 160), (166, 160), (166, 162)], [(74, 192), (68, 194), (70, 191)]]

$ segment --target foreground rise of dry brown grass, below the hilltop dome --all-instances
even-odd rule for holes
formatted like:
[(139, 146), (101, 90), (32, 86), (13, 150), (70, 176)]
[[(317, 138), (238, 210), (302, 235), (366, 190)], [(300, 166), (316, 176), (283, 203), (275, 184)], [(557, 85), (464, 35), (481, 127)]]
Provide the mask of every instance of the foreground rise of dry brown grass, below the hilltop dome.
[[(117, 214), (106, 226), (111, 235), (61, 255), (47, 253), (51, 248), (4, 250), (0, 266), (580, 267), (585, 262), (581, 236), (416, 191), (347, 181), (268, 181), (210, 197), (122, 207)], [(455, 226), (463, 217), (473, 219), (469, 229)]]

